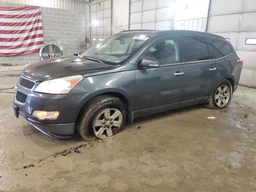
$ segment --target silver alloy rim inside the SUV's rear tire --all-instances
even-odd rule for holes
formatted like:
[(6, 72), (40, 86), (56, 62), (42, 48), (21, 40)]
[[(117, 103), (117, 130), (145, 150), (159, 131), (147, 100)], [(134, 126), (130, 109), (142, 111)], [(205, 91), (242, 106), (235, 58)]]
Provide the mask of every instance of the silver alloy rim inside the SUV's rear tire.
[(219, 86), (214, 95), (214, 102), (218, 107), (224, 107), (230, 100), (230, 89), (226, 85)]

